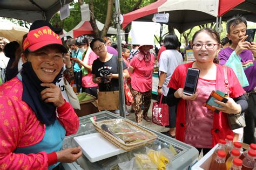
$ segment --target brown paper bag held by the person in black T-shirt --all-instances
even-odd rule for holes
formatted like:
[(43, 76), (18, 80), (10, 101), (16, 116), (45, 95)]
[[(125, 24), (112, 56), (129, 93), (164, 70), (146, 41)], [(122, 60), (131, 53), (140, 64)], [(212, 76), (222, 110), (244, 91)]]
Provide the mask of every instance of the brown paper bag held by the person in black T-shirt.
[(119, 91), (98, 91), (98, 109), (119, 109)]

